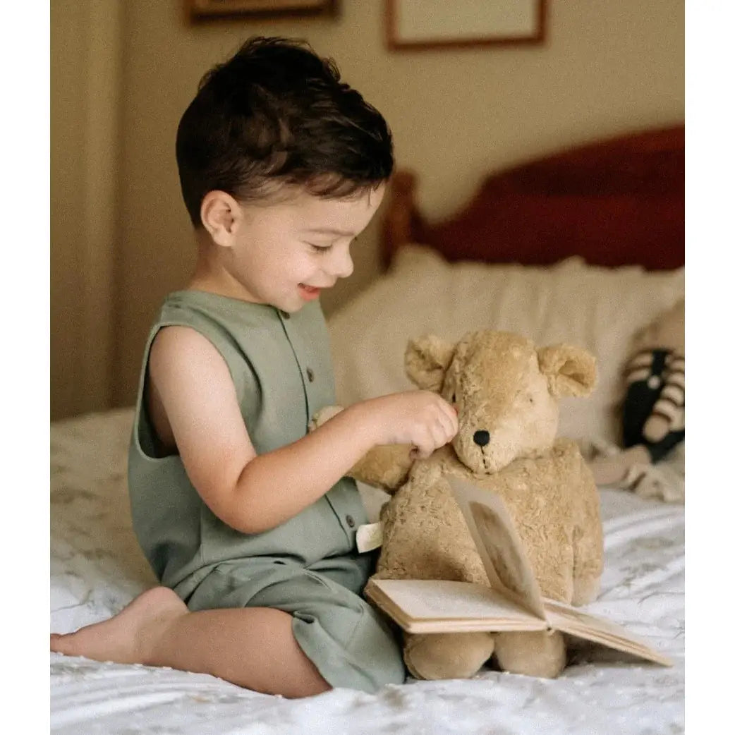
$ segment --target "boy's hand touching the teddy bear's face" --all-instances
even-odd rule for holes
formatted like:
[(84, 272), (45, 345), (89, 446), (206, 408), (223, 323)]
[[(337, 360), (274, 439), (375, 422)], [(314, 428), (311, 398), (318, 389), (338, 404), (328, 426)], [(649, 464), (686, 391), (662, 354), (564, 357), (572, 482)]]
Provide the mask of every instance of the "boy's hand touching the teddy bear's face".
[(456, 411), (429, 390), (393, 393), (357, 406), (368, 411), (376, 444), (410, 444), (422, 458), (451, 442), (459, 429)]

